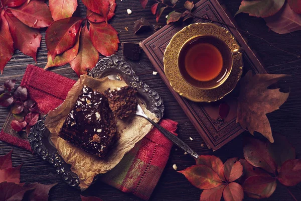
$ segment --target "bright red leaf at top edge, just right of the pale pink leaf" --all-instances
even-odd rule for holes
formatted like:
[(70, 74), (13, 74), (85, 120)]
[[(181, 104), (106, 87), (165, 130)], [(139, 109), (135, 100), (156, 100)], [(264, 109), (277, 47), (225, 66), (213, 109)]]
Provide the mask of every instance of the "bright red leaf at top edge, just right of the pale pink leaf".
[(83, 4), (92, 12), (100, 14), (107, 22), (107, 15), (109, 13), (109, 1), (108, 0), (82, 0)]

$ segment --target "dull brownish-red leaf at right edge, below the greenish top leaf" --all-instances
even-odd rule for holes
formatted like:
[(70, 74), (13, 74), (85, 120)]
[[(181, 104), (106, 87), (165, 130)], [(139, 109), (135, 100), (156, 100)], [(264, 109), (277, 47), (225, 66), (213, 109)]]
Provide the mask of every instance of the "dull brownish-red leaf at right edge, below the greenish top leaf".
[(276, 15), (264, 18), (264, 20), (266, 25), (278, 34), (301, 30), (301, 15), (293, 12), (287, 4)]

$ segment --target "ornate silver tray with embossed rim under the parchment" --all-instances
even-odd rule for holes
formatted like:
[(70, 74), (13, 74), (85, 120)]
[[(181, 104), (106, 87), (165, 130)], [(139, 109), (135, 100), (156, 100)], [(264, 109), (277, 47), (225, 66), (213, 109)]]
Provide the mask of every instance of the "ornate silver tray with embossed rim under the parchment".
[[(129, 86), (137, 88), (139, 98), (149, 111), (156, 114), (158, 118), (163, 117), (164, 105), (161, 96), (139, 79), (129, 63), (116, 55), (101, 59), (88, 75), (95, 78), (108, 76), (110, 79), (124, 80)], [(28, 136), (29, 143), (36, 154), (56, 168), (57, 173), (67, 184), (78, 187), (78, 176), (70, 170), (71, 166), (58, 154), (50, 140), (50, 132), (44, 124), (45, 117), (31, 129)]]

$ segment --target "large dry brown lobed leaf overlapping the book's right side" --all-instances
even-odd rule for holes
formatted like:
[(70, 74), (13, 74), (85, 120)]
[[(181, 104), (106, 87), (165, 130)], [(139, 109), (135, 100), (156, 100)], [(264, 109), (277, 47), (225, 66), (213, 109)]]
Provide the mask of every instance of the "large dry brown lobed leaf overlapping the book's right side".
[(248, 130), (252, 135), (257, 131), (271, 143), (274, 142), (266, 114), (279, 109), (289, 93), (282, 93), (279, 89), (267, 87), (288, 76), (283, 74), (252, 75), (252, 71), (248, 71), (241, 79), (236, 122), (240, 123), (243, 129)]

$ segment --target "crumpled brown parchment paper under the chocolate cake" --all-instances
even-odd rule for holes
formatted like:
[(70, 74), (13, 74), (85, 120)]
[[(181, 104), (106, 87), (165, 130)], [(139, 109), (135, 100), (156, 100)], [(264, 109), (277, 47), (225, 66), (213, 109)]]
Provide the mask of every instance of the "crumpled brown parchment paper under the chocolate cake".
[[(89, 187), (95, 175), (105, 173), (115, 167), (124, 154), (153, 128), (152, 124), (139, 116), (134, 116), (127, 121), (117, 120), (117, 132), (119, 132), (120, 138), (110, 148), (105, 159), (89, 154), (80, 147), (60, 138), (58, 134), (84, 85), (103, 92), (107, 88), (113, 89), (125, 86), (126, 83), (124, 81), (110, 80), (107, 77), (94, 79), (90, 76), (82, 75), (68, 92), (64, 103), (58, 109), (49, 112), (46, 118), (45, 125), (52, 134), (51, 140), (62, 158), (71, 164), (71, 170), (79, 176), (81, 190)], [(155, 122), (159, 121), (155, 114), (146, 110), (141, 102), (139, 105), (150, 119)]]

